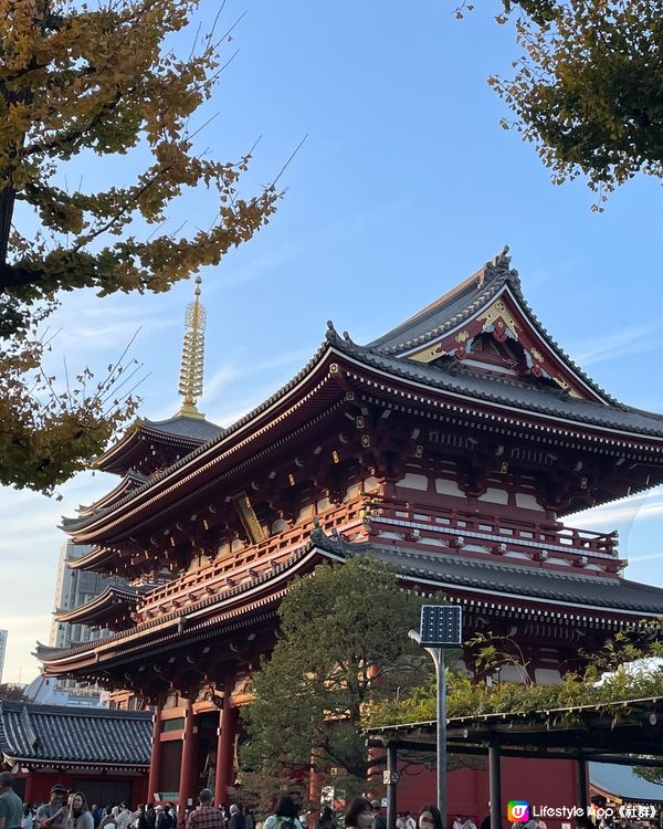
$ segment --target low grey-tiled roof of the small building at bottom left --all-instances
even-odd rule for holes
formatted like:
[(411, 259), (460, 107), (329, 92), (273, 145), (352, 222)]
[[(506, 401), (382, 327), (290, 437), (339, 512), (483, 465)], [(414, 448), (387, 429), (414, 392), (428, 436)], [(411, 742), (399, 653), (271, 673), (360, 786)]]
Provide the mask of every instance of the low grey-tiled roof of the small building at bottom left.
[(11, 765), (147, 768), (152, 715), (0, 701), (0, 752)]

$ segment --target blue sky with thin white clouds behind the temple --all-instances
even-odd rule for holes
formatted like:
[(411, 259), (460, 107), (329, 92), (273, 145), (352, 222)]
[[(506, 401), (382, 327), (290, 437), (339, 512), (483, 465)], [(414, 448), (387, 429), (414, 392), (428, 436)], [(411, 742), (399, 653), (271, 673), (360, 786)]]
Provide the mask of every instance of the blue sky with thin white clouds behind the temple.
[[(215, 2), (201, 0), (211, 21)], [(200, 408), (229, 424), (297, 371), (326, 321), (366, 342), (475, 271), (505, 243), (544, 325), (620, 400), (663, 410), (660, 364), (663, 191), (636, 179), (604, 213), (581, 181), (550, 183), (534, 148), (503, 130), (502, 102), (486, 84), (508, 73), (513, 32), (496, 6), (457, 21), (453, 1), (228, 0), (221, 31), (246, 12), (204, 114), (201, 148), (235, 158), (262, 136), (246, 178), (251, 195), (281, 169), (287, 192), (271, 224), (203, 273), (208, 308), (206, 395)], [(480, 4), (477, 4), (480, 6)], [(82, 159), (70, 180), (97, 186), (134, 162)], [(207, 227), (206, 193), (172, 211), (171, 229)], [(66, 357), (103, 371), (133, 346), (149, 372), (140, 413), (179, 406), (183, 312), (192, 284), (161, 296), (86, 292), (63, 297), (54, 365)], [(35, 640), (48, 640), (62, 514), (115, 483), (80, 475), (63, 501), (0, 492), (6, 681), (30, 680)], [(663, 493), (575, 516), (571, 525), (619, 528), (629, 578), (663, 586)], [(10, 586), (10, 589), (7, 588)]]

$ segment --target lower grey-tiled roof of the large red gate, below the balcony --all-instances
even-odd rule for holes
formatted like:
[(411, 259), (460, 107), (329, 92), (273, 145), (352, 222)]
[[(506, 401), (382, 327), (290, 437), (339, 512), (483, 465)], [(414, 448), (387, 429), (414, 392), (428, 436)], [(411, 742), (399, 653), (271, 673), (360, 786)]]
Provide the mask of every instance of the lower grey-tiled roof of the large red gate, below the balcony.
[(141, 659), (154, 649), (171, 652), (177, 641), (199, 642), (201, 637), (244, 629), (252, 615), (273, 608), (297, 575), (323, 560), (343, 562), (371, 555), (393, 567), (399, 578), (439, 589), (452, 600), (472, 607), (508, 607), (525, 616), (546, 617), (564, 623), (613, 627), (632, 625), (663, 615), (663, 589), (619, 576), (566, 574), (518, 566), (511, 562), (481, 562), (442, 550), (434, 553), (387, 544), (349, 543), (338, 534), (312, 532), (309, 541), (295, 546), (287, 559), (263, 569), (233, 587), (170, 612), (143, 621), (91, 644), (53, 648), (38, 643), (35, 655), (57, 675), (85, 670), (96, 675), (105, 665), (122, 661), (122, 654)]

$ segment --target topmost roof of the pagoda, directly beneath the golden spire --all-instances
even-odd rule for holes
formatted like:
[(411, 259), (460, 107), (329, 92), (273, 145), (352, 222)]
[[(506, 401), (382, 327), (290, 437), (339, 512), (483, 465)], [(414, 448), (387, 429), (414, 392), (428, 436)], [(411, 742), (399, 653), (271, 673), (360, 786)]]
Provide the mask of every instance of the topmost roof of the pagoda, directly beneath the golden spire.
[[(139, 419), (94, 462), (95, 469), (126, 474), (140, 462), (146, 447), (157, 443), (180, 457), (223, 432), (223, 429), (200, 416), (178, 413), (166, 420)], [(133, 470), (136, 474), (136, 470)]]

